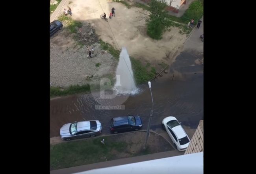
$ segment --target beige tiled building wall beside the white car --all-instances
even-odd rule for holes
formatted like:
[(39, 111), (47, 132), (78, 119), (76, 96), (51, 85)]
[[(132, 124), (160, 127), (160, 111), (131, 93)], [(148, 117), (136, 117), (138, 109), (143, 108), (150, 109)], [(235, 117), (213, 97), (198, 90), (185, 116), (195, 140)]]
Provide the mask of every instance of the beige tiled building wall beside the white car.
[(204, 151), (204, 120), (200, 120), (185, 154), (193, 154)]

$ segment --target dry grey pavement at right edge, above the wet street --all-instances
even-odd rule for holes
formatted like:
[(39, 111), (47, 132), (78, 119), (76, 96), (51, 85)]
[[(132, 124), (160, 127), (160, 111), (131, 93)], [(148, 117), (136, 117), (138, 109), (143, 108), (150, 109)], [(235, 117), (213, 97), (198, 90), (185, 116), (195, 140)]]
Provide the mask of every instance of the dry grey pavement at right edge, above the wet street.
[(202, 17), (202, 23), (200, 28), (197, 29), (197, 26), (191, 31), (191, 35), (188, 37), (187, 41), (184, 43), (184, 49), (195, 50), (197, 52), (204, 52), (204, 42), (201, 41), (200, 35), (204, 33), (204, 17)]

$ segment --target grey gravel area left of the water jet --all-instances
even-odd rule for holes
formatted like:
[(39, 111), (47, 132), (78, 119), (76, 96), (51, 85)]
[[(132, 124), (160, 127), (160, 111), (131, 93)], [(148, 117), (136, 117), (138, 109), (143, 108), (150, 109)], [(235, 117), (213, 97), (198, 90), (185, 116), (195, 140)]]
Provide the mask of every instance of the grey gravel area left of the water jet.
[[(65, 88), (83, 85), (90, 83), (92, 78), (115, 74), (118, 61), (100, 48), (91, 25), (83, 26), (78, 35), (85, 44), (82, 48), (74, 46), (73, 35), (67, 34), (65, 30), (50, 39), (51, 86)], [(94, 54), (88, 58), (87, 53), (92, 47)], [(100, 63), (99, 67), (96, 67), (97, 63)]]

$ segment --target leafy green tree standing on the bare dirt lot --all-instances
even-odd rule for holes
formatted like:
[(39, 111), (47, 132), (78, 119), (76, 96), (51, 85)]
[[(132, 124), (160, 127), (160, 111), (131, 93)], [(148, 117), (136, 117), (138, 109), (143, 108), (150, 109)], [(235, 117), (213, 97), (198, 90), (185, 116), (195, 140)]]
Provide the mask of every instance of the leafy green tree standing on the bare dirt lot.
[(148, 4), (150, 15), (147, 19), (147, 34), (152, 39), (161, 39), (161, 35), (167, 26), (168, 12), (165, 0), (151, 0)]

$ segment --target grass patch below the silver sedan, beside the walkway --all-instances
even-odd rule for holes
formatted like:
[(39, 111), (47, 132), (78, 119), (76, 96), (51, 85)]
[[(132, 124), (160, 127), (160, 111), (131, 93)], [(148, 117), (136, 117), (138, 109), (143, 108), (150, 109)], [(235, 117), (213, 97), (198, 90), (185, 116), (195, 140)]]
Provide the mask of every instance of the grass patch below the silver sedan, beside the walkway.
[(116, 159), (114, 151), (124, 152), (127, 148), (126, 142), (103, 138), (106, 145), (100, 143), (100, 137), (50, 146), (50, 170), (113, 160)]

